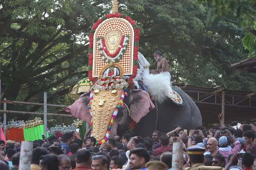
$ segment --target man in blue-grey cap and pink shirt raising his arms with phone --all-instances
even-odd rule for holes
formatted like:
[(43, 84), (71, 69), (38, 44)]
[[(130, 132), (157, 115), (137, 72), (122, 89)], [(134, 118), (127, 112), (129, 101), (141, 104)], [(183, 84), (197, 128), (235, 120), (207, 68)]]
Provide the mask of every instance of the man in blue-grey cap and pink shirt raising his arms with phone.
[[(240, 152), (241, 151), (241, 143), (231, 134), (229, 130), (227, 131), (227, 136), (230, 137), (230, 139), (234, 142), (234, 148), (229, 149), (228, 148), (228, 142), (227, 142), (227, 137), (222, 136), (219, 138), (219, 153), (222, 154), (225, 157), (226, 164), (228, 162), (228, 155), (234, 154), (235, 152)], [(220, 131), (216, 131), (218, 136), (220, 135)], [(216, 135), (215, 133), (215, 135)]]

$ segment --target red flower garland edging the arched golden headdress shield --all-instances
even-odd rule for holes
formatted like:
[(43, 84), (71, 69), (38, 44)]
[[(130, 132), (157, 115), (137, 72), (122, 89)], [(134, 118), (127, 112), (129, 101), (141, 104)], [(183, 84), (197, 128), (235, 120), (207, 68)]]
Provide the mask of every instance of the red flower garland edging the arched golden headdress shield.
[[(105, 15), (105, 18), (121, 18), (121, 13), (117, 13), (117, 14), (107, 14)], [(134, 26), (136, 23), (132, 20), (132, 18), (126, 16), (124, 17), (127, 21), (129, 21), (129, 23)], [(103, 22), (104, 19), (99, 19), (92, 27), (92, 30), (95, 31), (96, 28)], [(94, 37), (94, 33), (90, 33), (89, 34), (89, 48), (93, 48), (93, 37)], [(139, 28), (134, 28), (134, 41), (138, 42), (140, 38), (140, 31)], [(138, 60), (138, 51), (139, 51), (139, 47), (134, 46), (134, 55), (133, 55), (133, 60)], [(93, 53), (89, 53), (89, 61), (88, 61), (89, 65), (93, 64)], [(137, 65), (133, 65), (133, 74), (130, 76), (130, 78), (128, 79), (128, 83), (129, 83), (129, 88), (132, 88), (132, 85), (134, 85), (134, 82), (132, 81), (133, 78), (136, 77), (137, 74)], [(92, 82), (96, 82), (96, 79), (92, 77), (92, 70), (88, 70), (88, 77), (90, 78), (90, 80)]]

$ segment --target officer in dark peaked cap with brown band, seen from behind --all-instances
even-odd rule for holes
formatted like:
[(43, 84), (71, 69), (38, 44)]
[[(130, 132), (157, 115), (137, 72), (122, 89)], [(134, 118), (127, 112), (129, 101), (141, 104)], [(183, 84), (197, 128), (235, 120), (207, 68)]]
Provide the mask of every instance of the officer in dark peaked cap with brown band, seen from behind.
[(204, 166), (204, 157), (203, 153), (205, 152), (205, 148), (200, 146), (190, 146), (187, 148), (187, 153), (189, 156), (189, 164), (191, 167), (186, 167), (185, 170), (199, 170), (198, 166)]

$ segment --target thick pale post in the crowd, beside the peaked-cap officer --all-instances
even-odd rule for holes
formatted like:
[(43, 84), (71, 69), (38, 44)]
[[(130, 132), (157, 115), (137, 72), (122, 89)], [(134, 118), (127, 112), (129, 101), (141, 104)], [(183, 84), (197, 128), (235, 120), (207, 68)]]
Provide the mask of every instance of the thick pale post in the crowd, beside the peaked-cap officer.
[(174, 142), (172, 151), (172, 170), (183, 169), (183, 143)]

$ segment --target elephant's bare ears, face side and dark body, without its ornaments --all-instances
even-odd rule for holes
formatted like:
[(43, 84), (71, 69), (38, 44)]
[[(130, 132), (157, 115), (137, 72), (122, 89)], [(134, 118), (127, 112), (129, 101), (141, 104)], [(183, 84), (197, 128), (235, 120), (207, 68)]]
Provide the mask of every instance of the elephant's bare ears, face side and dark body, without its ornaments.
[[(202, 125), (201, 113), (194, 101), (177, 86), (173, 86), (172, 89), (182, 97), (184, 106), (178, 106), (171, 100), (162, 104), (152, 102), (148, 93), (142, 89), (127, 91), (128, 96), (124, 98), (124, 103), (128, 108), (119, 110), (110, 136), (125, 133), (129, 128), (130, 119), (136, 122), (134, 134), (141, 137), (150, 137), (155, 129), (169, 132), (175, 125), (180, 125), (185, 129), (194, 129)], [(86, 92), (74, 104), (65, 108), (65, 111), (90, 124), (91, 115), (87, 108), (89, 102), (90, 92)]]

